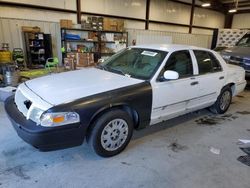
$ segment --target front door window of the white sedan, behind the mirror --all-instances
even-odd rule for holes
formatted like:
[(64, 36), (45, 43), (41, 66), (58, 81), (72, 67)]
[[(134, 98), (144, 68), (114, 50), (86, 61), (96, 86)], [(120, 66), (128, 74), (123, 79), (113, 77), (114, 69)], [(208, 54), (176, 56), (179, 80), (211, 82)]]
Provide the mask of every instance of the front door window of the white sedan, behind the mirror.
[(193, 75), (193, 64), (188, 50), (173, 52), (168, 58), (166, 65), (162, 69), (159, 78), (167, 70), (176, 71), (179, 73), (179, 78), (185, 78)]

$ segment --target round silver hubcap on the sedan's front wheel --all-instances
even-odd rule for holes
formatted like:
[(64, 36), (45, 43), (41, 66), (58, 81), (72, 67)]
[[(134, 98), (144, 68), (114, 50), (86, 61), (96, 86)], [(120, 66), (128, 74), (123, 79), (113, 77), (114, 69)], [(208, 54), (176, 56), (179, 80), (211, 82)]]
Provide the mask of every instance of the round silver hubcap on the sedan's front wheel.
[(120, 148), (128, 137), (128, 124), (123, 119), (110, 121), (101, 134), (102, 147), (107, 151)]

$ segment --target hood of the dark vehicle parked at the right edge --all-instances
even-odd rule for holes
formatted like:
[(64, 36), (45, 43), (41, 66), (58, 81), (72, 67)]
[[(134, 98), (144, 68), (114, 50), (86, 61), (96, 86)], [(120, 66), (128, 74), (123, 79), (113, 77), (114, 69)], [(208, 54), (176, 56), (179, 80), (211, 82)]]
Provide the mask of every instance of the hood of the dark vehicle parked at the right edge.
[(230, 56), (250, 58), (250, 47), (234, 46), (231, 48), (227, 48), (221, 53)]

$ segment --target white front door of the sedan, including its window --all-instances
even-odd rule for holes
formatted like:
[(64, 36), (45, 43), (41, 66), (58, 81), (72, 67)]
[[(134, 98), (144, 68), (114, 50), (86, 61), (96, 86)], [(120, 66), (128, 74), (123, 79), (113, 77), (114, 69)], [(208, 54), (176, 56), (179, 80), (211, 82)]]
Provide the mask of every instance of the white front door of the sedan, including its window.
[[(179, 79), (164, 80), (167, 70), (179, 73)], [(175, 51), (170, 54), (166, 64), (155, 81), (152, 81), (153, 104), (150, 124), (183, 115), (192, 104), (198, 92), (198, 84), (194, 78), (194, 63), (189, 50)]]

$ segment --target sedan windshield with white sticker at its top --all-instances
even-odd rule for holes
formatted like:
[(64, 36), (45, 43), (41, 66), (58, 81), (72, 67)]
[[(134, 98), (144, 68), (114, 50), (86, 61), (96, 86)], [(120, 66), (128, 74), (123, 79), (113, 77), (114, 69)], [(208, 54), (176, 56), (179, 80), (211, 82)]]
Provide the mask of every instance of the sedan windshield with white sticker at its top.
[(101, 63), (98, 68), (128, 77), (148, 80), (167, 52), (143, 48), (126, 48)]

